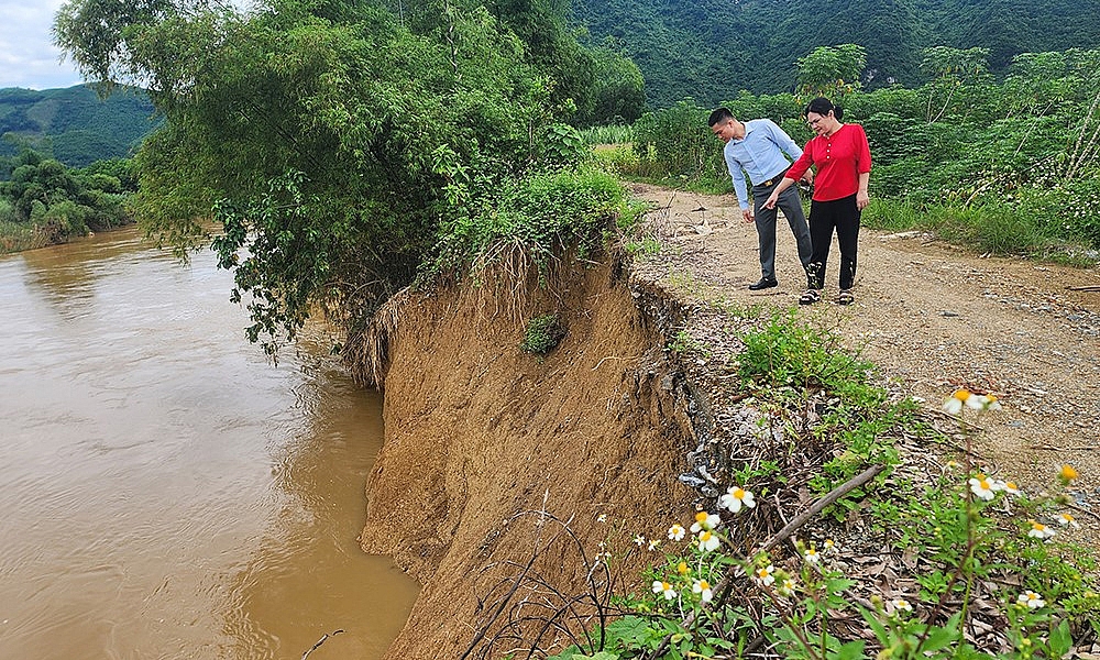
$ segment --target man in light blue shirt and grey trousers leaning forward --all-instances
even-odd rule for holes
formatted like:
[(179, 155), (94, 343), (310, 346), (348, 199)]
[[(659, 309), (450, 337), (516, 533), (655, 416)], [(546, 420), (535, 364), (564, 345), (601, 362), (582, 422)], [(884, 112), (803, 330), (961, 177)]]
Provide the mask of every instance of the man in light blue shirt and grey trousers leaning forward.
[[(791, 167), (791, 162), (802, 156), (802, 150), (776, 125), (770, 119), (754, 119), (746, 122), (737, 121), (727, 108), (718, 108), (711, 113), (707, 123), (711, 132), (726, 143), (723, 155), (729, 176), (734, 179), (734, 191), (741, 207), (746, 222), (756, 220), (757, 237), (760, 242), (760, 282), (750, 284), (752, 290), (771, 288), (779, 285), (776, 279), (776, 218), (777, 209), (782, 209), (783, 216), (791, 226), (794, 240), (799, 245), (799, 260), (802, 267), (810, 265), (813, 246), (810, 242), (810, 226), (802, 211), (802, 198), (799, 187), (791, 186), (779, 196), (776, 207), (763, 206), (771, 195), (772, 188), (783, 180), (783, 174)], [(783, 156), (790, 156), (790, 160)], [(748, 190), (745, 175), (752, 182), (752, 201), (755, 210), (749, 210)], [(812, 182), (809, 172), (804, 180)]]

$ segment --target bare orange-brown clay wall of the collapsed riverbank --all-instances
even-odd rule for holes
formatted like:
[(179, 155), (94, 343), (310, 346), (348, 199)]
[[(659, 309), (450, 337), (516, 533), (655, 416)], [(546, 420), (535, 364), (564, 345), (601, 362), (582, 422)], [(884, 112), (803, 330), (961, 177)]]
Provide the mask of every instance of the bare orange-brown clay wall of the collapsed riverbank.
[[(676, 474), (694, 447), (684, 407), (658, 323), (617, 273), (578, 265), (552, 292), (452, 286), (391, 310), (386, 439), (360, 540), (424, 588), (387, 658), (459, 658), (482, 630), (470, 657), (502, 657), (507, 644), (486, 652), (485, 640), (509, 616), (494, 618), (497, 604), (536, 547), (550, 546), (530, 574), (562, 593), (583, 591), (585, 558), (602, 549), (619, 580), (637, 583), (649, 558), (630, 539), (660, 538), (683, 517), (692, 493)], [(540, 361), (519, 345), (527, 319), (547, 311), (569, 331)], [(524, 514), (543, 507), (579, 542), (547, 543), (560, 526)], [(525, 586), (512, 602), (539, 597)]]

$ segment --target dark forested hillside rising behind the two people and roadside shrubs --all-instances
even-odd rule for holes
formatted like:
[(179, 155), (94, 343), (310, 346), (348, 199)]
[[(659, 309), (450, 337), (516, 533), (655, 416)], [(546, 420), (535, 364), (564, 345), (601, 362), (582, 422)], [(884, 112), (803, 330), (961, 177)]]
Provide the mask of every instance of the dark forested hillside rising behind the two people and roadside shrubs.
[(996, 74), (1018, 53), (1100, 43), (1100, 0), (574, 0), (573, 9), (594, 42), (634, 59), (653, 107), (790, 91), (795, 61), (823, 45), (864, 46), (862, 82), (873, 89), (923, 82), (930, 46), (989, 48)]

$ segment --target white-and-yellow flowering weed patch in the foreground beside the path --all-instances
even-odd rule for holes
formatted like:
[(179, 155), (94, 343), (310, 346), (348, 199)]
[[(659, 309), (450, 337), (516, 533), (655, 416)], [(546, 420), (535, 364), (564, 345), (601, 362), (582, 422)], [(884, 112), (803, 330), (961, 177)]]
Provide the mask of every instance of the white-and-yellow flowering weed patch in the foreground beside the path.
[[(968, 435), (968, 416), (999, 407), (964, 391), (944, 406)], [(1094, 641), (1100, 595), (1084, 575), (1096, 566), (1053, 540), (1052, 525), (1077, 524), (1068, 499), (1028, 495), (976, 471), (968, 455), (923, 490), (869, 498), (882, 538), (917, 569), (903, 581), (908, 592), (860, 584), (829, 538), (780, 532), (745, 551), (737, 530), (756, 496), (730, 485), (719, 509), (695, 514), (690, 534), (673, 522), (661, 535), (671, 543), (646, 576), (651, 593), (620, 598), (624, 616), (602, 646), (547, 658), (1062, 658)], [(1076, 470), (1056, 476), (1066, 488)]]

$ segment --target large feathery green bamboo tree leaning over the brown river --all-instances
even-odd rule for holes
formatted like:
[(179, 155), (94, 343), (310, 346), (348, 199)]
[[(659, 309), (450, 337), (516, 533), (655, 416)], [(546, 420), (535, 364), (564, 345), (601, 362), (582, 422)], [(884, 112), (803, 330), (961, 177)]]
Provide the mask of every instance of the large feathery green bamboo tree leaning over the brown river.
[(139, 219), (185, 250), (213, 209), (272, 352), (316, 304), (369, 312), (409, 283), (469, 211), (450, 164), (488, 195), (553, 117), (522, 42), (471, 0), (404, 21), (366, 2), (144, 2), (70, 0), (57, 42), (92, 81), (148, 87), (167, 121), (136, 160)]

